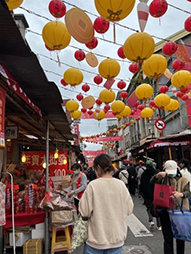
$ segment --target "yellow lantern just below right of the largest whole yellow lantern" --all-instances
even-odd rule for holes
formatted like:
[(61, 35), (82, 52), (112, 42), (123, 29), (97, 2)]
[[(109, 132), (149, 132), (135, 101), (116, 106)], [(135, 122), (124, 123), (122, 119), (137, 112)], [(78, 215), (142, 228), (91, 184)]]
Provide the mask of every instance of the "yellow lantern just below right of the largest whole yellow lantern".
[(159, 54), (154, 54), (149, 59), (145, 60), (142, 65), (142, 70), (147, 77), (159, 79), (167, 68), (166, 58)]

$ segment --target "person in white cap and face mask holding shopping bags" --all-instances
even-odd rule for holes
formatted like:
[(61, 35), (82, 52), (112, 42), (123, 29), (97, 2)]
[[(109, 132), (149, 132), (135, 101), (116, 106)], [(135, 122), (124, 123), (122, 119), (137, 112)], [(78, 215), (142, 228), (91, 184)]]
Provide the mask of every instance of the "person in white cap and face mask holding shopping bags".
[[(183, 177), (177, 168), (177, 163), (174, 160), (167, 160), (165, 162), (164, 172), (158, 172), (151, 178), (151, 183), (161, 184), (167, 175), (167, 184), (174, 186), (173, 195), (178, 199), (179, 203), (183, 201), (183, 209), (188, 209), (188, 197), (190, 197), (190, 182), (187, 178)], [(178, 209), (178, 205), (175, 202), (174, 196), (171, 196), (174, 200), (174, 209)], [(161, 216), (162, 233), (164, 238), (164, 254), (174, 254), (173, 248), (173, 233), (171, 229), (171, 223), (168, 210), (164, 211)], [(185, 242), (176, 239), (176, 253), (184, 254)]]

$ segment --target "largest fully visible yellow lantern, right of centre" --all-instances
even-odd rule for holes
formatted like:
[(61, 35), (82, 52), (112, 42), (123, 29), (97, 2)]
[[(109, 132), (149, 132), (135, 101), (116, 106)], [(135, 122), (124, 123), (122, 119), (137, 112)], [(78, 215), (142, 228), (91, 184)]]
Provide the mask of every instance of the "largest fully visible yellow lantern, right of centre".
[(155, 42), (148, 33), (134, 33), (130, 35), (123, 46), (124, 55), (127, 59), (142, 64), (154, 52)]

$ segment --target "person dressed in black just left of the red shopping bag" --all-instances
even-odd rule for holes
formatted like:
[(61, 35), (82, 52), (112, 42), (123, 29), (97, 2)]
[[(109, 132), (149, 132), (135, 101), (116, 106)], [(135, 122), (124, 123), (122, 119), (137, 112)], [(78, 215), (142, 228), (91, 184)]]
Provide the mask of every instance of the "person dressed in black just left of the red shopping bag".
[[(146, 210), (149, 217), (149, 228), (154, 229), (154, 221), (153, 216), (151, 215), (151, 208), (153, 204), (153, 193), (154, 193), (154, 185), (150, 183), (151, 178), (156, 174), (156, 170), (153, 168), (153, 161), (146, 161), (146, 169), (141, 175), (141, 183), (140, 183), (140, 193), (144, 197), (144, 202), (146, 205)], [(161, 230), (161, 222), (160, 218), (156, 218), (157, 221), (157, 229)]]

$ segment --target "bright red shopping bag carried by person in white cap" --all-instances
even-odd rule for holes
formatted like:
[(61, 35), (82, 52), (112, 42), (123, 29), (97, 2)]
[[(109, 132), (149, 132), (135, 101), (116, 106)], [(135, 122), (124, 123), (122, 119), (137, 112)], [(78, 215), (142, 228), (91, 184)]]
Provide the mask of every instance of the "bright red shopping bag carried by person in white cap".
[(161, 207), (171, 208), (172, 200), (170, 196), (174, 192), (174, 187), (166, 184), (155, 184), (153, 204)]

